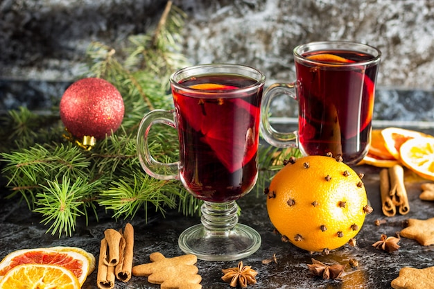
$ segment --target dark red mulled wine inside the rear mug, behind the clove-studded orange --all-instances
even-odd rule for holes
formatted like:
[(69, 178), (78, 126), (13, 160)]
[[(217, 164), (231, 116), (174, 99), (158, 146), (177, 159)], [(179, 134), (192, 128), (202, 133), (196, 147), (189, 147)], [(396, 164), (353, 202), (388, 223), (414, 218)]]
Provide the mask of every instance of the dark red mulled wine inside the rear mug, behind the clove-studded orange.
[(302, 56), (307, 61), (295, 62), (299, 147), (306, 155), (332, 152), (355, 164), (370, 143), (379, 65), (357, 65), (374, 57), (356, 51), (312, 51)]

